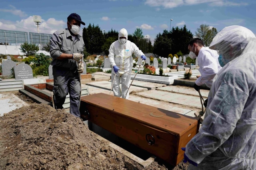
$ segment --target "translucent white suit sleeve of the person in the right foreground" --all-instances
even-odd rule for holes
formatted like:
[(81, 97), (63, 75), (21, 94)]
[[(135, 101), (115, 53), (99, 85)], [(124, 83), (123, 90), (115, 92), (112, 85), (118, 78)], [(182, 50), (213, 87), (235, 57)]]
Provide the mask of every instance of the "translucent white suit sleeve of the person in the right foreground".
[[(221, 80), (214, 98), (210, 101), (199, 133), (186, 145), (186, 155), (196, 163), (202, 162), (224, 142), (231, 147), (235, 140), (231, 136), (242, 115), (249, 92), (245, 84), (238, 85), (241, 77), (234, 78), (231, 74), (234, 73), (223, 76), (225, 80)], [(227, 141), (229, 138), (230, 141)]]

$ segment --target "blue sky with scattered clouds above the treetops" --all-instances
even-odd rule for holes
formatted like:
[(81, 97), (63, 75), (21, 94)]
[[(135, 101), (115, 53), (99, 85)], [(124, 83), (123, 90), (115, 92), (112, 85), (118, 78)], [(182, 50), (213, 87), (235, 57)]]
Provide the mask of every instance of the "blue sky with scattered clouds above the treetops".
[[(8, 0), (0, 2), (0, 29), (37, 32), (33, 15), (39, 15), (40, 33), (66, 28), (67, 17), (77, 13), (82, 21), (100, 29), (128, 34), (141, 28), (154, 41), (158, 33), (186, 24), (193, 35), (201, 24), (220, 31), (241, 25), (256, 34), (256, 0)], [(172, 19), (172, 21), (170, 21)], [(81, 25), (81, 30), (84, 25)]]

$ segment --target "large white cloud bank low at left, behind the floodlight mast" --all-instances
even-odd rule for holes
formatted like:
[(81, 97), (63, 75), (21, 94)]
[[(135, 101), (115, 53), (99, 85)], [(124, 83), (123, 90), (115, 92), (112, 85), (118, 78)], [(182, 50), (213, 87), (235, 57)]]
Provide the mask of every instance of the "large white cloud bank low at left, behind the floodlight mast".
[[(66, 22), (62, 20), (55, 20), (54, 18), (49, 18), (47, 21), (42, 19), (42, 23), (38, 26), (39, 33), (52, 34), (54, 31), (66, 28)], [(7, 20), (0, 21), (0, 29), (24, 31), (24, 32), (34, 32), (37, 33), (37, 25), (33, 21), (33, 16), (16, 22), (11, 22)], [(82, 30), (82, 29), (81, 29)]]

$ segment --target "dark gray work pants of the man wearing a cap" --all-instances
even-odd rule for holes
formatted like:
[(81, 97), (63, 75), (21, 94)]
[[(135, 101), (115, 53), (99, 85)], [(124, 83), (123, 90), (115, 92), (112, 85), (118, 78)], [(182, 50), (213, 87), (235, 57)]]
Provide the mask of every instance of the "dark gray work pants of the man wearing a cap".
[(70, 113), (80, 117), (80, 79), (77, 70), (70, 70), (60, 66), (52, 67), (54, 78), (53, 94), (55, 109), (63, 109), (66, 96), (70, 95)]

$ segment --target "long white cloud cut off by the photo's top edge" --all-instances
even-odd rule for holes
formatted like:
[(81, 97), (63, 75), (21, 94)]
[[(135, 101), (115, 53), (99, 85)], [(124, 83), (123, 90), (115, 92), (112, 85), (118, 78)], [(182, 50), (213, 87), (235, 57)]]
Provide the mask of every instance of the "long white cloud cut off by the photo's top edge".
[(209, 4), (210, 6), (246, 6), (247, 3), (235, 3), (226, 0), (146, 0), (145, 4), (152, 7), (175, 8), (185, 5)]

